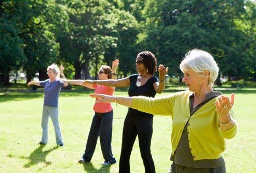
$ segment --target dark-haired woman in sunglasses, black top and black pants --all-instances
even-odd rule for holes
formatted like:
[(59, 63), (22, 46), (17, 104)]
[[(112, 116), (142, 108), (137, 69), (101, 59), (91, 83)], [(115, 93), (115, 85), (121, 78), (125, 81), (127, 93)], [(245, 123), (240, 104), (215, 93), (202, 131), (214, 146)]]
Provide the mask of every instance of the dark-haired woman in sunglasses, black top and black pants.
[[(165, 75), (168, 72), (168, 68), (165, 69), (163, 65), (159, 65), (159, 79), (154, 76), (154, 72), (156, 72), (156, 58), (153, 53), (149, 51), (140, 52), (136, 58), (136, 69), (138, 74), (125, 78), (104, 81), (86, 80), (82, 85), (129, 86), (129, 96), (155, 97), (156, 93), (161, 93), (164, 90)], [(130, 172), (130, 154), (137, 135), (139, 137), (140, 152), (145, 172), (155, 172), (154, 161), (150, 151), (152, 133), (153, 115), (129, 108), (123, 129), (122, 150), (119, 162), (120, 173)]]

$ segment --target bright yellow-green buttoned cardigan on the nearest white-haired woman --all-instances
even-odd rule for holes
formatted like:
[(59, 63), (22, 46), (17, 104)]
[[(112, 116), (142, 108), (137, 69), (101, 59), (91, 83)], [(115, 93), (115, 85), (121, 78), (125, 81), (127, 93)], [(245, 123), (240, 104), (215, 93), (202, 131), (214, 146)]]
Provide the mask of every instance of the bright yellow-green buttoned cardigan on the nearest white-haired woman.
[[(132, 108), (155, 115), (170, 115), (172, 118), (172, 155), (176, 150), (186, 122), (188, 143), (193, 159), (218, 159), (225, 150), (224, 138), (230, 139), (237, 132), (237, 123), (226, 131), (221, 130), (215, 101), (211, 99), (190, 117), (190, 96), (193, 92), (181, 91), (165, 97), (132, 97)], [(233, 111), (230, 111), (234, 119)]]

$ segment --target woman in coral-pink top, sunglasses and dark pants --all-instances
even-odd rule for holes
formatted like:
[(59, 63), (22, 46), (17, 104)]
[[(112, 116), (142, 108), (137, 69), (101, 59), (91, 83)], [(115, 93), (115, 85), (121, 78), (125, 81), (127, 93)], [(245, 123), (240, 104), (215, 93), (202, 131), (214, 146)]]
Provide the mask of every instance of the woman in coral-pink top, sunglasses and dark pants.
[[(119, 60), (115, 59), (112, 62), (112, 69), (109, 66), (101, 66), (98, 77), (99, 80), (114, 79), (116, 80), (116, 69)], [(80, 85), (83, 80), (64, 80), (74, 85)], [(115, 87), (103, 86), (98, 84), (87, 84), (87, 88), (95, 89), (95, 93), (104, 93), (105, 95), (113, 96)], [(90, 132), (88, 135), (86, 149), (83, 157), (78, 161), (79, 163), (90, 162), (93, 152), (100, 136), (101, 151), (104, 157), (102, 165), (110, 165), (116, 163), (111, 150), (112, 138), (112, 122), (113, 122), (113, 107), (111, 103), (95, 103), (93, 106), (95, 115), (93, 116)]]

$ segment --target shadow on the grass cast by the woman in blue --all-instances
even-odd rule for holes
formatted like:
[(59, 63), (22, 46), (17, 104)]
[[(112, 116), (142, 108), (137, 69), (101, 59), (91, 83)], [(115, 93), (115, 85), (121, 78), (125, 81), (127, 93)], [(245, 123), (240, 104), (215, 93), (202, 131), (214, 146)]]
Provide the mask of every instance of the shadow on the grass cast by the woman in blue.
[(23, 167), (24, 168), (29, 168), (33, 165), (36, 165), (38, 163), (45, 163), (46, 166), (50, 165), (51, 162), (47, 162), (46, 161), (46, 156), (47, 154), (49, 154), (51, 151), (55, 150), (58, 148), (58, 146), (53, 147), (49, 150), (43, 151), (43, 148), (45, 147), (45, 145), (39, 145), (39, 147), (37, 149), (35, 149), (28, 158), (21, 156), (21, 159), (28, 159), (30, 160), (29, 163), (25, 164)]

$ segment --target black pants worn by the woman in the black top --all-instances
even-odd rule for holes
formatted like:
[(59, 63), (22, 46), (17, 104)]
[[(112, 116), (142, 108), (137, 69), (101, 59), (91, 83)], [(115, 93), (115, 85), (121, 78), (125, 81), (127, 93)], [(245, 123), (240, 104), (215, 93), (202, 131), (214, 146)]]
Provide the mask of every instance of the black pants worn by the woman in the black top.
[(145, 172), (155, 172), (155, 165), (150, 151), (152, 133), (153, 117), (129, 115), (128, 112), (124, 122), (119, 173), (130, 172), (130, 155), (137, 135), (139, 137), (140, 153), (145, 166)]

